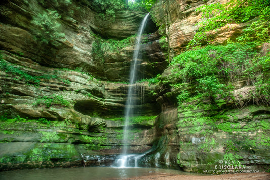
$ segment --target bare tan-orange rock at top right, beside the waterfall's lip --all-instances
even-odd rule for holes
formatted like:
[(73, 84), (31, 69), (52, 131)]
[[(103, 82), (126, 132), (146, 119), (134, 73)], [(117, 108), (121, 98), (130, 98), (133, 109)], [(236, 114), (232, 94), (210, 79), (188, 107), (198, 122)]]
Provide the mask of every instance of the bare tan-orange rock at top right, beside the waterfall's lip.
[[(160, 26), (160, 33), (168, 37), (170, 57), (185, 51), (186, 46), (199, 29), (197, 24), (201, 21), (202, 13), (195, 11), (196, 8), (217, 2), (224, 3), (227, 1), (161, 0), (153, 5), (151, 15), (157, 25)], [(224, 44), (228, 38), (234, 40), (246, 25), (246, 23), (228, 24), (216, 32), (209, 32), (209, 34), (213, 36), (213, 43)]]

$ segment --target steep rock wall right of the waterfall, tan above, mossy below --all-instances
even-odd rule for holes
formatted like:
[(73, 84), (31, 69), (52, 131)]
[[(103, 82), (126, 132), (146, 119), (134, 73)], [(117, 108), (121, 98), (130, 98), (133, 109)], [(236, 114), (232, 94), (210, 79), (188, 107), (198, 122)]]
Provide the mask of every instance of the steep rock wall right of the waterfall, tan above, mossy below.
[[(215, 2), (161, 0), (152, 7), (151, 15), (160, 26), (159, 32), (168, 39), (170, 59), (186, 50), (198, 30), (196, 24), (201, 21), (201, 14), (195, 9)], [(212, 32), (212, 43), (226, 44), (228, 38), (235, 40), (247, 24), (229, 24)], [(165, 69), (161, 83), (155, 89), (162, 108), (155, 122), (159, 138), (154, 146), (156, 150), (145, 156), (141, 165), (203, 172), (232, 170), (224, 165), (229, 165), (228, 161), (238, 161), (246, 170), (267, 171), (270, 111), (267, 104), (256, 105), (254, 102), (255, 87), (245, 78), (234, 82), (231, 93), (244, 104), (241, 108), (226, 102), (215, 108), (192, 105), (186, 108), (178, 106), (177, 95), (195, 91), (197, 85), (190, 80), (185, 88), (172, 87), (174, 73), (173, 67)], [(239, 168), (240, 164), (230, 165)]]

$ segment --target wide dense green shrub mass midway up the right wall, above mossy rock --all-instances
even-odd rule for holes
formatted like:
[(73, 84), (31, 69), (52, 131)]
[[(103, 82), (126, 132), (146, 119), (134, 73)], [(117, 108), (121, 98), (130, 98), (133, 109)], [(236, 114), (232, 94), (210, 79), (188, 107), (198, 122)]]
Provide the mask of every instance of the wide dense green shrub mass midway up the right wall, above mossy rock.
[[(233, 101), (230, 90), (234, 88), (232, 84), (239, 80), (256, 86), (253, 94), (256, 103), (269, 104), (268, 58), (247, 44), (209, 45), (175, 56), (170, 63), (173, 73), (164, 81), (171, 82), (171, 87), (178, 93), (179, 105), (187, 102), (202, 104), (206, 100), (215, 105)], [(187, 85), (191, 82), (195, 87), (188, 90)]]

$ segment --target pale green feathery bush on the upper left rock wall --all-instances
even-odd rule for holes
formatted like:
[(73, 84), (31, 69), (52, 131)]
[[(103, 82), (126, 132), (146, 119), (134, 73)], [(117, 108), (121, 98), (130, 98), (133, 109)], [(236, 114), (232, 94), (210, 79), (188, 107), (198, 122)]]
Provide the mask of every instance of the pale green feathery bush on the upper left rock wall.
[(34, 32), (36, 38), (45, 44), (60, 45), (58, 40), (65, 37), (65, 34), (60, 32), (61, 24), (58, 22), (60, 18), (57, 11), (48, 9), (43, 14), (33, 16), (32, 23), (38, 27)]

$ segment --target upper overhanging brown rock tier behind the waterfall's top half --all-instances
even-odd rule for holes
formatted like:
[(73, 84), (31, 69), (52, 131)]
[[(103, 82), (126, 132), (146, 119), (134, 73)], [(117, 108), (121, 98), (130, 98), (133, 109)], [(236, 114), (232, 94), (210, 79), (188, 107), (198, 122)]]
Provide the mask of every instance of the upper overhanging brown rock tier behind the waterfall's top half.
[[(101, 37), (114, 37), (115, 39), (135, 35), (145, 13), (120, 12), (115, 14), (115, 20), (102, 21), (96, 12), (80, 2), (73, 2), (68, 7), (67, 5), (57, 6), (55, 2), (38, 3), (38, 1), (30, 1), (29, 3), (22, 3), (20, 1), (7, 1), (3, 3), (1, 5), (1, 49), (12, 53), (23, 53), (24, 58), (29, 58), (43, 66), (79, 68), (81, 71), (89, 72), (103, 80), (127, 81), (134, 41), (120, 49), (117, 54), (107, 52), (108, 50), (104, 49), (108, 54), (100, 54), (100, 56), (106, 56), (103, 61), (94, 58), (92, 46), (95, 42), (105, 42), (105, 40), (97, 38), (96, 34)], [(17, 11), (18, 7), (20, 7), (20, 11)], [(66, 8), (69, 9), (68, 12)], [(59, 46), (42, 44), (35, 37), (35, 31), (38, 27), (31, 20), (37, 14), (46, 12), (47, 9), (55, 9), (61, 15), (61, 19), (57, 21), (61, 24), (61, 31), (65, 33), (65, 40), (61, 40)], [(100, 23), (105, 23), (105, 25), (102, 26)], [(153, 25), (150, 19), (149, 24)], [(157, 30), (155, 25), (151, 27), (153, 28), (149, 28), (146, 33), (153, 33)], [(157, 43), (159, 37), (160, 35), (156, 33), (155, 37), (152, 36), (149, 39), (150, 41), (145, 44), (147, 47), (145, 47), (146, 51), (142, 60), (145, 69), (149, 66), (158, 66), (158, 72), (150, 74), (146, 71), (147, 74), (144, 78), (156, 76), (156, 74), (162, 72), (159, 68), (161, 65), (163, 69), (167, 66), (166, 56), (164, 53), (160, 53), (161, 47)], [(143, 38), (147, 39), (147, 36)], [(149, 56), (156, 57), (151, 60), (155, 61), (154, 63), (149, 61)]]

